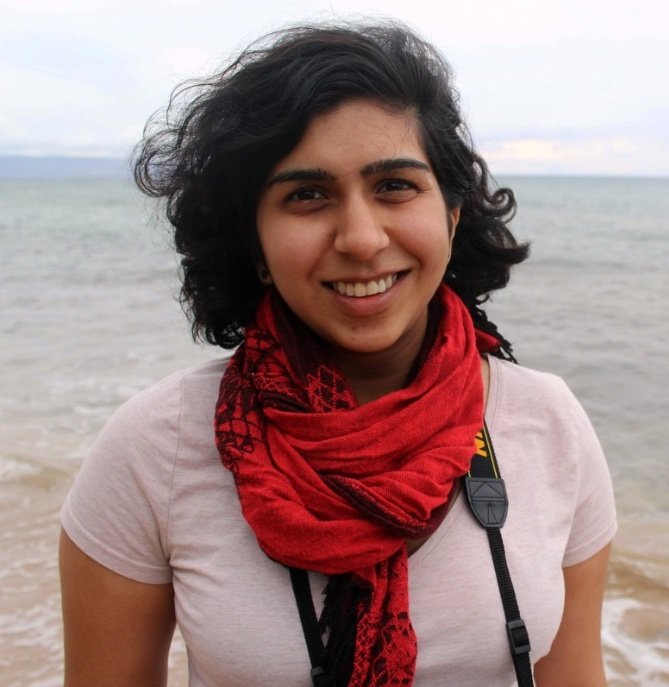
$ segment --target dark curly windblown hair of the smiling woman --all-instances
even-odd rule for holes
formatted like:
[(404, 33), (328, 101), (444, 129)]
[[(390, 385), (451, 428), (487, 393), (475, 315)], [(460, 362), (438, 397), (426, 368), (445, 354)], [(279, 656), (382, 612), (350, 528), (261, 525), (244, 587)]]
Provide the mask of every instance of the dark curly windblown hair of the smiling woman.
[(405, 26), (382, 23), (271, 33), (220, 74), (177, 89), (164, 119), (147, 124), (135, 180), (166, 200), (195, 338), (224, 348), (243, 340), (265, 288), (255, 215), (267, 177), (315, 116), (355, 98), (416, 113), (446, 202), (461, 209), (444, 280), (477, 326), (496, 332), (480, 305), (528, 254), (507, 228), (513, 193), (491, 190), (441, 54)]

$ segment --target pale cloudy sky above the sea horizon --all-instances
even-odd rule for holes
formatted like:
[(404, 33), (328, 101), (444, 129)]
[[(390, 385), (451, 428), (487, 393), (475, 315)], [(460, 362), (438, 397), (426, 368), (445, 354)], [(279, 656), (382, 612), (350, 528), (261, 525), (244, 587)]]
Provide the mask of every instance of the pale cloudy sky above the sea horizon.
[(493, 173), (669, 176), (667, 0), (0, 0), (0, 155), (127, 157), (254, 38), (381, 17), (444, 53)]

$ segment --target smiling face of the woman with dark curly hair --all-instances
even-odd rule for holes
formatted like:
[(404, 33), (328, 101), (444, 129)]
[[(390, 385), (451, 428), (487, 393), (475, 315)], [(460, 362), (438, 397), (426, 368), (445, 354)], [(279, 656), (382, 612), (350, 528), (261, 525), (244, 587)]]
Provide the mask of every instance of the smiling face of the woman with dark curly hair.
[(458, 218), (416, 117), (355, 100), (315, 117), (274, 167), (257, 226), (275, 287), (335, 355), (411, 364)]

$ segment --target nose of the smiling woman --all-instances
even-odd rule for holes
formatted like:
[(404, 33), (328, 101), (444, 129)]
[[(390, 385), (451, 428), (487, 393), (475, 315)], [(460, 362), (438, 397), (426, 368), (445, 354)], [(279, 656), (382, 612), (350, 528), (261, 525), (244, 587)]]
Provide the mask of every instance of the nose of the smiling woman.
[(372, 200), (349, 198), (337, 214), (334, 247), (357, 260), (369, 260), (389, 245), (381, 213)]

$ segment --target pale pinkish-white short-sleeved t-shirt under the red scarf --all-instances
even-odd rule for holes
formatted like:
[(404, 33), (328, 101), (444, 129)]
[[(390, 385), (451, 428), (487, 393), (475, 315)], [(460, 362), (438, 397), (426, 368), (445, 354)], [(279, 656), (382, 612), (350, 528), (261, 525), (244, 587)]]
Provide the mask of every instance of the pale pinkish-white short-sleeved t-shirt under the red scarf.
[[(63, 507), (72, 540), (102, 565), (172, 582), (191, 687), (310, 687), (288, 571), (243, 519), (214, 445), (225, 362), (174, 374), (122, 406)], [(562, 380), (490, 359), (486, 422), (509, 495), (502, 530), (533, 662), (564, 602), (563, 566), (615, 532), (606, 462)], [(311, 574), (317, 611), (325, 578)], [(515, 674), (485, 531), (463, 497), (409, 559), (415, 687), (509, 687)]]

